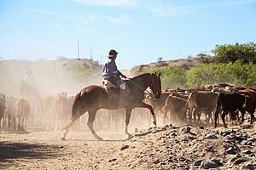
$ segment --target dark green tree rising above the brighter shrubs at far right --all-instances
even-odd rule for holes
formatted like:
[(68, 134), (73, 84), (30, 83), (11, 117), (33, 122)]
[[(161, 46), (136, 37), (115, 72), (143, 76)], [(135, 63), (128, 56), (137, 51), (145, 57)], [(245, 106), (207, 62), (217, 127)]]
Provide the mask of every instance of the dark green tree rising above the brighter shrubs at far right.
[(244, 64), (248, 64), (250, 61), (253, 64), (256, 63), (256, 44), (254, 42), (216, 45), (212, 53), (220, 63), (234, 63), (238, 59)]

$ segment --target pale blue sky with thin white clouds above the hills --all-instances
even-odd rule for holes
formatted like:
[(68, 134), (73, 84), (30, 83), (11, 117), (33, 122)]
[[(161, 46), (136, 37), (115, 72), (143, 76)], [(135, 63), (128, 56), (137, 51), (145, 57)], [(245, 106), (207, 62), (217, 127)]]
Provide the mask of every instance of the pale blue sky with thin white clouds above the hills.
[[(79, 40), (79, 41), (78, 41)], [(0, 0), (0, 59), (119, 52), (119, 69), (256, 42), (256, 0)]]

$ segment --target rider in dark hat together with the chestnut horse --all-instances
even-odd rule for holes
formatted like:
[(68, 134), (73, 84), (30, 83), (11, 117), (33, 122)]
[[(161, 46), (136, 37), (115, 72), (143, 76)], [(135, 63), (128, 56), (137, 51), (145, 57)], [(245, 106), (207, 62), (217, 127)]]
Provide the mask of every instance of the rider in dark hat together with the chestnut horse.
[[(102, 138), (96, 134), (93, 128), (96, 112), (100, 109), (117, 110), (120, 108), (125, 108), (125, 134), (128, 136), (128, 138), (131, 137), (131, 134), (128, 132), (128, 124), (131, 118), (131, 111), (134, 108), (138, 107), (148, 109), (153, 117), (153, 124), (156, 125), (154, 110), (152, 106), (146, 104), (143, 99), (145, 98), (144, 93), (148, 92), (147, 88), (151, 90), (151, 92), (148, 92), (148, 94), (155, 99), (160, 98), (160, 73), (144, 73), (123, 81), (120, 77), (125, 76), (117, 69), (114, 61), (117, 54), (118, 53), (113, 49), (109, 51), (109, 60), (103, 68), (103, 87), (98, 85), (90, 85), (81, 89), (76, 94), (73, 100), (70, 120), (64, 127), (61, 128), (62, 130), (65, 130), (61, 139), (66, 139), (67, 133), (73, 123), (79, 118), (79, 116), (82, 116), (85, 112), (88, 112), (89, 116), (87, 125), (90, 128), (90, 132), (95, 136), (96, 139), (102, 140)], [(108, 87), (111, 86), (111, 84), (113, 85), (113, 88)], [(129, 95), (127, 95), (127, 91)]]

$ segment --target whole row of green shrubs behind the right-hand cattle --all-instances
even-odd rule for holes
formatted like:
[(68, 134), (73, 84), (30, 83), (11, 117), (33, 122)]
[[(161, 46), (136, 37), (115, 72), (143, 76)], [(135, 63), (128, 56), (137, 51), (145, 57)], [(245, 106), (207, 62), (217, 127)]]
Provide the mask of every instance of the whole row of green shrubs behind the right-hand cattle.
[(148, 72), (161, 72), (163, 88), (196, 88), (205, 84), (228, 83), (235, 86), (256, 86), (256, 65), (234, 63), (199, 64), (189, 71), (179, 66), (156, 68)]

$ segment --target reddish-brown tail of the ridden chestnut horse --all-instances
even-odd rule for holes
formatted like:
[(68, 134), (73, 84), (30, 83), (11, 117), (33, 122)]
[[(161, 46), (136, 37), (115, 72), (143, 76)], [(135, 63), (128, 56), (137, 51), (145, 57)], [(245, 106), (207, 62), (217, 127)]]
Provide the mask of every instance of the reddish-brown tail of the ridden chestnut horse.
[(80, 94), (81, 93), (77, 94), (75, 99), (73, 100), (72, 115), (67, 124), (64, 127), (62, 127), (61, 130), (66, 130), (67, 128), (71, 127), (73, 125), (73, 122), (75, 122), (79, 118), (79, 116), (81, 116), (81, 114), (78, 113), (79, 105), (81, 103)]

